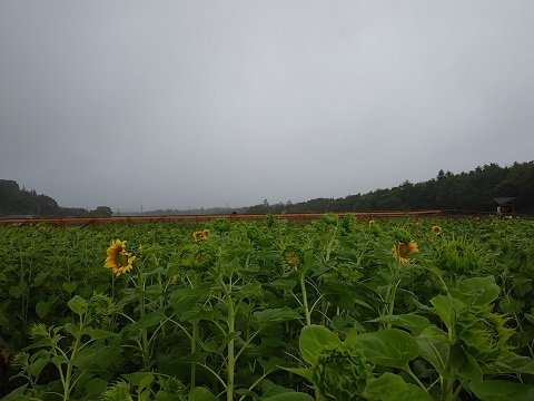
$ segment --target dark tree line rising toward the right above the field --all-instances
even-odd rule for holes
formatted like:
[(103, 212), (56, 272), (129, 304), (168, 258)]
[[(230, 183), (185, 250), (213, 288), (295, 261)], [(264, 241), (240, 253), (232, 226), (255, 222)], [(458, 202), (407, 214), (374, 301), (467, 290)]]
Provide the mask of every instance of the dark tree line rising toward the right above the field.
[(413, 184), (405, 180), (389, 189), (340, 198), (316, 198), (300, 203), (250, 206), (247, 213), (326, 213), (368, 211), (445, 209), (495, 212), (495, 198), (515, 197), (515, 212), (534, 214), (534, 162), (501, 167), (495, 163), (468, 173), (437, 173), (435, 178)]

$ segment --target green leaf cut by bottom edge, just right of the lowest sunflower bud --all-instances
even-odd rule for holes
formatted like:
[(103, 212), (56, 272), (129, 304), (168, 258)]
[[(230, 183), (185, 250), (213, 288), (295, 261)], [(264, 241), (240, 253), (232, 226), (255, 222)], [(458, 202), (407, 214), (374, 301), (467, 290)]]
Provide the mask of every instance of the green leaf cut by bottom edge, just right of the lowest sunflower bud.
[(433, 401), (426, 391), (389, 372), (369, 380), (363, 395), (369, 401)]

